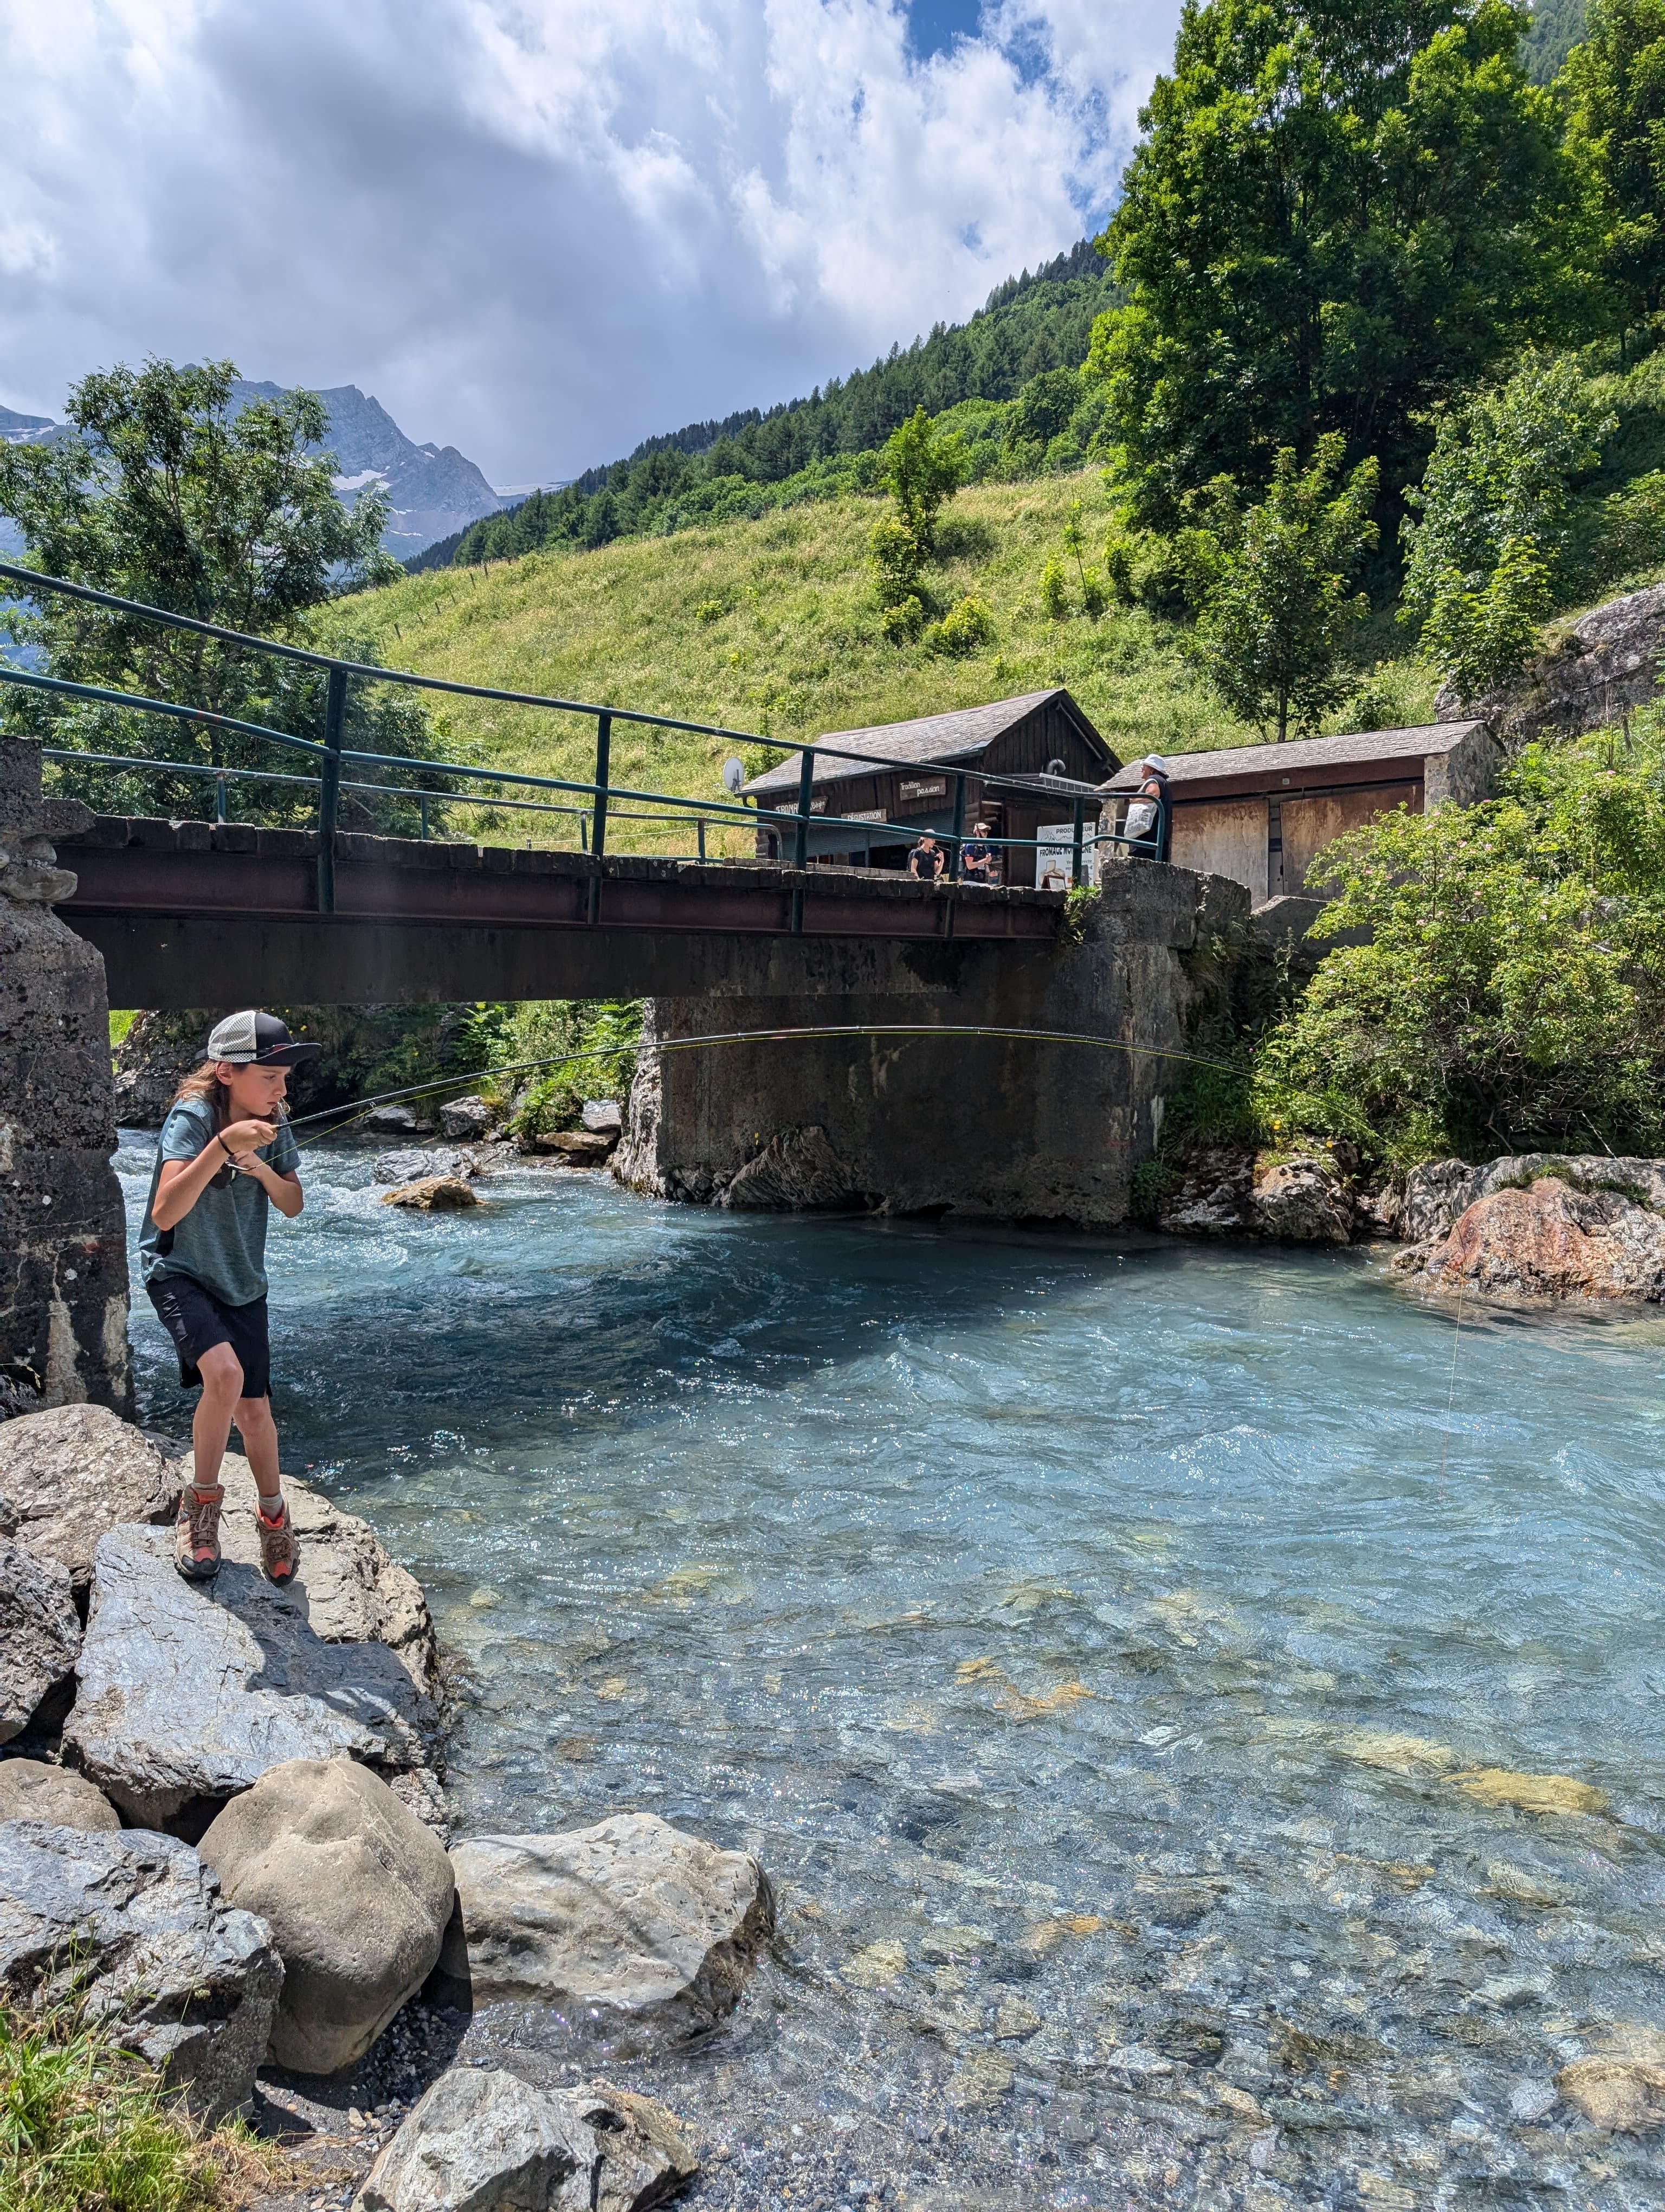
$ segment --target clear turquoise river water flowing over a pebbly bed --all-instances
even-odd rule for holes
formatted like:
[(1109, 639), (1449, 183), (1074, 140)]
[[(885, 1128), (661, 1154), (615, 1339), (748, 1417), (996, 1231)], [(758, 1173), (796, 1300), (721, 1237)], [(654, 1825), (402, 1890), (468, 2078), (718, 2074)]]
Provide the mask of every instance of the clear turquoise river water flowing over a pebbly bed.
[(1554, 2077), (1665, 2037), (1663, 1323), (531, 1168), (411, 1219), (345, 1146), (307, 1188), (285, 1464), (464, 1661), (458, 1825), (635, 1805), (781, 1885), (741, 2015), (637, 2070), (730, 2150), (701, 2201), (1658, 2203)]

